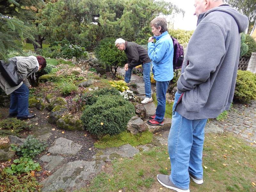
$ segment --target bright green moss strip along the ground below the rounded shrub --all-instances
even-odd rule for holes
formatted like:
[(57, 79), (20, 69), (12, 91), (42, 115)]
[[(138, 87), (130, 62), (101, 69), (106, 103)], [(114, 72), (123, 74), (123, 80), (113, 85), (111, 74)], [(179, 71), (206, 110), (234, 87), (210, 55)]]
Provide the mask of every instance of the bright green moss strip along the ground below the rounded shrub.
[(129, 143), (132, 146), (144, 145), (150, 143), (153, 139), (151, 132), (142, 132), (132, 135), (128, 132), (122, 132), (118, 135), (102, 137), (99, 141), (94, 143), (96, 148), (119, 147)]

